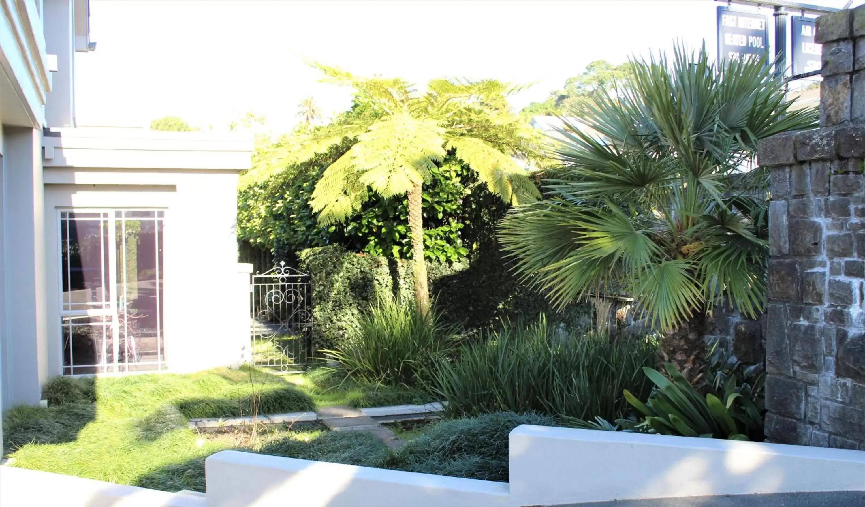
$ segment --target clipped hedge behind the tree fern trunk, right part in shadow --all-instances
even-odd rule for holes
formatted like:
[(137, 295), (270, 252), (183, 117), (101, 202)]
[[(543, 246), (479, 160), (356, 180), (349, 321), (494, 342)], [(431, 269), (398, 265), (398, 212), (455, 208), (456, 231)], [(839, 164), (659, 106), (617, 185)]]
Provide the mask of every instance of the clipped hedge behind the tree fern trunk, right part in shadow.
[[(355, 337), (361, 312), (379, 295), (413, 297), (409, 260), (348, 252), (340, 245), (309, 248), (298, 258), (300, 269), (311, 275), (313, 350), (338, 348)], [(478, 255), (471, 264), (427, 261), (427, 270), (441, 317), (466, 330), (497, 326), (503, 320), (535, 320), (541, 312), (567, 330), (591, 326), (587, 305), (556, 311), (541, 294), (521, 285), (497, 252)]]

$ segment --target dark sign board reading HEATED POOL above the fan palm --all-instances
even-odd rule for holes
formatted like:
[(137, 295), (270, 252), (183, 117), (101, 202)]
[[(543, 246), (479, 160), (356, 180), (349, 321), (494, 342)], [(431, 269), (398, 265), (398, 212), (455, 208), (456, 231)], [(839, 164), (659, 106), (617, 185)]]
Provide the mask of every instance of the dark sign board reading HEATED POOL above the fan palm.
[(765, 14), (718, 7), (718, 60), (758, 59), (769, 51)]

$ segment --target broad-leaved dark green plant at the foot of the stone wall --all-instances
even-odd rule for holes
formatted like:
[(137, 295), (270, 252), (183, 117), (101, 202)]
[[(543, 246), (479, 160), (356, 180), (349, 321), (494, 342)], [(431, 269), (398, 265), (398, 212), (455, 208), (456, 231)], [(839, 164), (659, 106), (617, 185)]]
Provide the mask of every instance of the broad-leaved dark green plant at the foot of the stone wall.
[[(667, 375), (644, 368), (656, 388), (643, 403), (625, 391), (625, 398), (644, 419), (625, 427), (647, 433), (708, 437), (729, 440), (763, 440), (763, 378), (756, 375), (752, 383), (737, 382), (735, 369), (716, 374), (702, 395), (672, 363), (665, 364)], [(742, 371), (742, 370), (740, 370)]]

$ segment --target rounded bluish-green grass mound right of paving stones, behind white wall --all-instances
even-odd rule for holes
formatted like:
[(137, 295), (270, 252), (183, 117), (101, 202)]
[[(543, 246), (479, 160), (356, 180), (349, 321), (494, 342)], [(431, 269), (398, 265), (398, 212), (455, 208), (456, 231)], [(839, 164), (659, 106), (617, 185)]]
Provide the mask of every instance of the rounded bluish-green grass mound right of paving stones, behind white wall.
[(508, 481), (508, 435), (521, 424), (555, 426), (541, 414), (500, 412), (431, 425), (401, 446), (386, 466), (462, 478)]

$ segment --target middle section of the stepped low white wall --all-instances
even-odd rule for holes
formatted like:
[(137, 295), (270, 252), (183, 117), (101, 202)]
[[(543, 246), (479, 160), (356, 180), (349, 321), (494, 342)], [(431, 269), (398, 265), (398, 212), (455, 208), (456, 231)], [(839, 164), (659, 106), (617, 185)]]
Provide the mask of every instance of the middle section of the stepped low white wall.
[(208, 507), (497, 507), (508, 485), (426, 473), (217, 452), (207, 459)]

